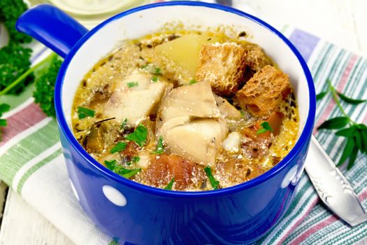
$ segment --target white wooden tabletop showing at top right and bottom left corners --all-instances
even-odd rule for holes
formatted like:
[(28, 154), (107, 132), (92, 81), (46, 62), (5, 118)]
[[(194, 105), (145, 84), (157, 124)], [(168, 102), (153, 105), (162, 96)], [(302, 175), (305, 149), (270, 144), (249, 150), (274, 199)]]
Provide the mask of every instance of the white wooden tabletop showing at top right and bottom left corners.
[[(252, 7), (271, 25), (289, 24), (367, 57), (365, 0), (233, 0)], [(0, 185), (0, 245), (73, 244), (13, 190)], [(6, 206), (3, 211), (3, 200)]]

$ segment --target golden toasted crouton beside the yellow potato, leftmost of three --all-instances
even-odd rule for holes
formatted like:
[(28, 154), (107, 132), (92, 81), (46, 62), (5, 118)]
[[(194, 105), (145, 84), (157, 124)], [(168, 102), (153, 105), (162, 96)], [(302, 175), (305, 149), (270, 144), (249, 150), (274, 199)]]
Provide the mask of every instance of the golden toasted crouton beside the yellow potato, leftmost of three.
[(233, 95), (243, 77), (245, 49), (236, 43), (208, 43), (200, 51), (196, 80), (208, 81), (216, 94)]

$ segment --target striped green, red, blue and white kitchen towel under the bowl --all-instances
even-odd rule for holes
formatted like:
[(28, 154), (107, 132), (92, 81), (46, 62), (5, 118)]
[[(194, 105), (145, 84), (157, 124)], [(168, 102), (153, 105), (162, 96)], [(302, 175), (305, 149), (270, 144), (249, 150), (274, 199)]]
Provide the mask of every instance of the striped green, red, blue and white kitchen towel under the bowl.
[[(329, 78), (338, 91), (354, 98), (367, 97), (367, 59), (323, 41), (299, 29), (287, 27), (286, 36), (301, 51), (315, 79), (317, 92), (326, 89)], [(41, 48), (40, 48), (41, 47)], [(36, 45), (34, 62), (45, 55)], [(46, 51), (47, 52), (47, 51)], [(39, 57), (41, 55), (41, 57)], [(0, 143), (0, 179), (8, 183), (26, 202), (64, 232), (75, 244), (115, 244), (82, 211), (73, 196), (66, 172), (57, 125), (47, 118), (31, 98), (32, 86), (20, 96), (0, 97), (11, 104), (5, 114), (8, 127)], [(359, 123), (367, 123), (367, 106), (343, 104)], [(317, 105), (316, 126), (340, 112), (328, 95)], [(332, 132), (314, 132), (334, 161), (340, 158), (345, 142)], [(342, 172), (367, 208), (367, 158), (359, 154), (354, 167)], [(318, 202), (308, 177), (301, 183), (289, 211), (258, 244), (355, 244), (367, 242), (367, 224), (350, 228)]]

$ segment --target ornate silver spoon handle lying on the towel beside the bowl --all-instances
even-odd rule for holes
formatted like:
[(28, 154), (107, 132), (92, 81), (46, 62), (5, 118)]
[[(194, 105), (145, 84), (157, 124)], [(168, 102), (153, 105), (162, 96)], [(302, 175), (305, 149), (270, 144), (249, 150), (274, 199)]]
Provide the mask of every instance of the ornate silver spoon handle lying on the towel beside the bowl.
[(352, 186), (313, 136), (305, 162), (305, 170), (326, 207), (351, 226), (367, 221)]

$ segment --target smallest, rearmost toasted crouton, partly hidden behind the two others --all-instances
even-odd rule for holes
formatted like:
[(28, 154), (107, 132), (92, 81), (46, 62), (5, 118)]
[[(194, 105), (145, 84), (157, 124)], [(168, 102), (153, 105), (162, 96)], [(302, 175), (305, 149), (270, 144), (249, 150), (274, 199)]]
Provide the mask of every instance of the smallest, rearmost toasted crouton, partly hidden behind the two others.
[(266, 65), (271, 65), (271, 60), (259, 45), (246, 43), (243, 47), (245, 48), (245, 64), (254, 73)]

